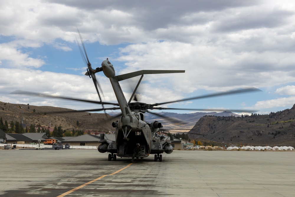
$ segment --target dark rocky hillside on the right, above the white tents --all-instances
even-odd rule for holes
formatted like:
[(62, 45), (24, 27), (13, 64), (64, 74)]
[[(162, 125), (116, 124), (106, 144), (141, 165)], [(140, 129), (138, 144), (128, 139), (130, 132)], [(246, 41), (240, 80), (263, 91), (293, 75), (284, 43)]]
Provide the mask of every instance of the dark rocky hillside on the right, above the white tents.
[(295, 105), (268, 115), (242, 117), (202, 117), (189, 133), (205, 134), (191, 139), (224, 142), (236, 145), (269, 145), (295, 147)]

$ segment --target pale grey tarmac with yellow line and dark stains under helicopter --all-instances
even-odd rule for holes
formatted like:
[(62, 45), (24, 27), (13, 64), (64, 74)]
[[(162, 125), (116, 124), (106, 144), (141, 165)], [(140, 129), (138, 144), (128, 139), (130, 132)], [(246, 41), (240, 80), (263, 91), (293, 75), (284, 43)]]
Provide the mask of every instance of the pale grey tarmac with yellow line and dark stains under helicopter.
[(295, 196), (294, 151), (0, 150), (0, 196)]

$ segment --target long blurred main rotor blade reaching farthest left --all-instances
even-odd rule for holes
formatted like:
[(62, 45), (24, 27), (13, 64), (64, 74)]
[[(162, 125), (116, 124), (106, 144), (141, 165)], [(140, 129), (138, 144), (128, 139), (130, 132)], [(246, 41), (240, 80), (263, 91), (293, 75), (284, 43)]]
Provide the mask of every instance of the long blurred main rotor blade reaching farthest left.
[(16, 90), (14, 92), (11, 92), (9, 94), (13, 95), (32, 95), (32, 96), (39, 96), (39, 97), (48, 97), (48, 98), (58, 98), (58, 99), (67, 99), (67, 100), (75, 100), (75, 101), (82, 101), (82, 102), (90, 102), (90, 103), (95, 103), (95, 104), (104, 104), (104, 105), (116, 105), (119, 106), (118, 103), (112, 103), (112, 102), (101, 102), (101, 101), (93, 101), (93, 100), (85, 100), (85, 99), (78, 99), (78, 98), (71, 98), (71, 97), (61, 97), (61, 96), (53, 96), (53, 95), (46, 95), (46, 94), (41, 94), (37, 92), (27, 92), (27, 91), (21, 91), (21, 90)]

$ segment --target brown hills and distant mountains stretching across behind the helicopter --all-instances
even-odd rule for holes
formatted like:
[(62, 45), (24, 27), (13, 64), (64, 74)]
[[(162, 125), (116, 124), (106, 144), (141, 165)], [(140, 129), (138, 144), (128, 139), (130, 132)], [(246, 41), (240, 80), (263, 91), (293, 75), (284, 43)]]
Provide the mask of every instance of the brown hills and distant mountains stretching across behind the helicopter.
[[(41, 126), (62, 126), (65, 129), (79, 129), (84, 131), (105, 132), (114, 130), (112, 122), (118, 118), (112, 112), (88, 113), (70, 112), (66, 108), (51, 106), (33, 106), (29, 104), (12, 104), (0, 102), (0, 117), (10, 124), (18, 121), (30, 127), (30, 124)], [(191, 139), (200, 141), (214, 141), (223, 145), (269, 145), (269, 146), (295, 146), (295, 105), (291, 109), (272, 112), (267, 115), (252, 114), (238, 115), (232, 112), (197, 112), (178, 114), (160, 112), (158, 115), (145, 113), (145, 121), (159, 121), (163, 129), (187, 129)], [(162, 116), (178, 120), (172, 123)], [(177, 130), (179, 129), (179, 130)], [(192, 133), (203, 134), (204, 136)]]

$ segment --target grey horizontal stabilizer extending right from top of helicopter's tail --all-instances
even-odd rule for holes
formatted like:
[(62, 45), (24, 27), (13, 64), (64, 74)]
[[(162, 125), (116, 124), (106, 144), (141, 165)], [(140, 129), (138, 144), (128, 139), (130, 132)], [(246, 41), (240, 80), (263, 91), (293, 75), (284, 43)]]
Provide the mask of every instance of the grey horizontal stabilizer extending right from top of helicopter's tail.
[(184, 73), (184, 72), (185, 70), (141, 70), (141, 71), (114, 76), (114, 79), (117, 79), (118, 81), (122, 81), (125, 79), (130, 79), (135, 76), (140, 76), (143, 74), (165, 74), (165, 73)]

